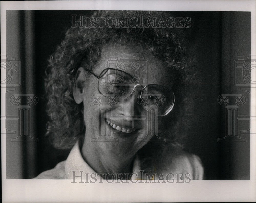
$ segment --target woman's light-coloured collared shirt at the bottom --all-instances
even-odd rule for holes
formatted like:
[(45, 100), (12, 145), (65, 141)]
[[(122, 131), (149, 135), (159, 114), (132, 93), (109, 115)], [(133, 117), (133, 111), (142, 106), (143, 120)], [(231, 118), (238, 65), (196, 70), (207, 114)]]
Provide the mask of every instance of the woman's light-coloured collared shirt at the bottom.
[[(138, 156), (135, 157), (133, 163), (133, 175), (131, 179), (141, 179), (141, 163)], [(164, 179), (177, 178), (175, 174), (189, 174), (191, 179), (203, 179), (203, 167), (201, 160), (194, 154), (189, 154), (181, 151), (172, 157), (172, 161), (167, 161), (161, 167), (160, 172)], [(87, 175), (86, 175), (87, 174)], [(58, 163), (53, 169), (47, 170), (39, 174), (35, 179), (90, 179), (91, 175), (96, 179), (100, 179), (97, 174), (83, 159), (77, 142), (71, 149), (68, 158), (65, 161)], [(152, 176), (152, 175), (150, 175)], [(159, 173), (156, 174), (159, 176)], [(166, 179), (168, 179), (166, 178)], [(145, 179), (145, 174), (143, 178)]]

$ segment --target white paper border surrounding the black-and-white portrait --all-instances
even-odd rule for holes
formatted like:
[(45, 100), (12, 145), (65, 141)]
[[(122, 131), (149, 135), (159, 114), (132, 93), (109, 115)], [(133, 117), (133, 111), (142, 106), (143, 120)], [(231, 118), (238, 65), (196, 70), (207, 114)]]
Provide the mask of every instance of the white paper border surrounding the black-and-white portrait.
[[(1, 55), (6, 55), (6, 10), (169, 10), (250, 11), (251, 55), (256, 55), (256, 1), (1, 1)], [(256, 81), (256, 72), (252, 72)], [(1, 69), (1, 81), (6, 72)], [(256, 88), (251, 88), (251, 115), (256, 115)], [(1, 112), (5, 112), (1, 88)], [(251, 130), (256, 131), (251, 119)], [(1, 120), (1, 132), (5, 131)], [(80, 183), (70, 180), (6, 179), (6, 136), (1, 137), (3, 202), (187, 202), (256, 201), (256, 137), (250, 136), (250, 180), (192, 180), (189, 184)], [(122, 184), (122, 185), (120, 185)]]

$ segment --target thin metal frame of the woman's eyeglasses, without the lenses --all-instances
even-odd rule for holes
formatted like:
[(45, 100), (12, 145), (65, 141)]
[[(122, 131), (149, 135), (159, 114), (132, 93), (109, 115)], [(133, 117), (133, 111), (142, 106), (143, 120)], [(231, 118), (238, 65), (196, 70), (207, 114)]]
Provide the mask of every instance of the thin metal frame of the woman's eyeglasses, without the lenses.
[[(98, 75), (96, 75), (95, 73), (93, 73), (90, 69), (87, 69), (87, 68), (84, 68), (86, 71), (88, 71), (89, 73), (91, 73), (94, 77), (96, 77), (97, 79), (100, 79), (101, 77), (103, 77), (107, 72), (108, 72), (108, 70), (118, 70), (118, 69), (115, 69), (115, 68), (105, 68), (104, 70), (102, 70), (101, 71), (101, 73), (100, 73), (100, 75), (98, 76)], [(104, 72), (105, 71), (105, 72)], [(118, 71), (120, 71), (120, 72), (123, 72), (123, 73), (125, 73), (125, 74), (128, 74), (128, 75), (130, 75), (129, 73), (127, 73), (127, 72), (124, 72), (124, 71), (122, 71), (122, 70), (118, 70)], [(104, 74), (102, 74), (104, 72)], [(132, 75), (130, 75), (131, 77), (132, 77)], [(143, 85), (141, 85), (141, 84), (136, 84), (136, 85), (134, 85), (134, 87), (133, 87), (133, 90), (131, 91), (131, 93), (129, 93), (129, 96), (131, 96), (132, 94), (133, 94), (133, 92), (134, 92), (134, 90), (135, 90), (135, 88), (136, 88), (136, 86), (137, 85), (140, 85), (140, 86), (142, 86), (142, 90), (141, 90), (141, 93), (140, 93), (140, 95), (138, 96), (138, 97), (141, 97), (141, 95), (142, 95), (142, 93), (143, 93), (143, 90), (148, 86), (148, 85), (158, 85), (158, 84), (148, 84), (148, 85), (146, 85), (145, 87), (143, 87)], [(99, 93), (101, 94), (101, 95), (103, 95), (103, 96), (105, 96), (104, 94), (102, 94), (101, 92), (100, 92), (100, 90), (99, 90), (99, 80), (98, 80), (98, 91), (99, 91)], [(159, 86), (163, 86), (163, 85), (159, 85)], [(167, 88), (167, 87), (165, 87), (165, 86), (163, 86), (164, 88), (166, 88), (166, 89), (168, 89), (170, 92), (172, 92), (173, 93), (173, 104), (172, 104), (172, 106), (171, 106), (171, 108), (164, 114), (164, 115), (157, 115), (157, 116), (166, 116), (167, 114), (169, 114), (171, 111), (172, 111), (172, 109), (173, 109), (173, 107), (174, 107), (174, 103), (175, 103), (175, 95), (174, 95), (174, 92), (173, 91), (171, 91), (169, 88)], [(105, 97), (107, 97), (107, 96), (105, 96)]]

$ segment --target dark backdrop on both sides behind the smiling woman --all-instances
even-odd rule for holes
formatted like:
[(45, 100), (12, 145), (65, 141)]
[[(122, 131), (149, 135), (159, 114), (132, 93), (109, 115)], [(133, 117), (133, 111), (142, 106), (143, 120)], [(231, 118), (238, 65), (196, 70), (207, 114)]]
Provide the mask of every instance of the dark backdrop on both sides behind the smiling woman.
[[(28, 26), (28, 22), (24, 19), (26, 15), (31, 16), (29, 23), (32, 30), (34, 68), (31, 70), (30, 77), (34, 78), (33, 92), (39, 97), (33, 117), (34, 136), (38, 138), (38, 142), (22, 143), (18, 146), (22, 152), (22, 161), (19, 163), (22, 168), (19, 173), (13, 170), (15, 153), (11, 152), (17, 146), (9, 142), (7, 135), (7, 178), (33, 178), (65, 160), (69, 153), (69, 151), (51, 147), (44, 136), (47, 116), (43, 79), (47, 59), (60, 44), (65, 35), (65, 29), (72, 25), (72, 14), (90, 14), (90, 12), (36, 10), (27, 14), (26, 11), (7, 11), (7, 55), (10, 56), (13, 52), (11, 48), (8, 49), (8, 45), (15, 46), (13, 45), (14, 32), (17, 33), (18, 40), (22, 41), (26, 38), (27, 31), (22, 25)], [(187, 137), (185, 150), (201, 158), (206, 179), (249, 180), (250, 135), (241, 135), (247, 139), (246, 142), (217, 142), (217, 138), (225, 137), (225, 108), (218, 104), (217, 98), (220, 94), (243, 94), (247, 102), (241, 108), (239, 107), (239, 114), (250, 114), (250, 94), (241, 92), (239, 87), (233, 85), (233, 61), (238, 56), (247, 58), (250, 54), (251, 13), (175, 11), (172, 15), (191, 17), (192, 26), (186, 28), (186, 33), (191, 44), (196, 47), (199, 82), (195, 87), (195, 94), (198, 95), (198, 99), (195, 107), (195, 125), (192, 126)], [(19, 25), (16, 28), (18, 31), (15, 27), (8, 29), (8, 23), (12, 23), (15, 16)], [(22, 52), (25, 45), (26, 43), (21, 43), (16, 46), (19, 46)], [(22, 55), (20, 58), (22, 59)], [(26, 63), (26, 61), (22, 62), (22, 64)], [(21, 70), (24, 68), (25, 66), (22, 65)], [(249, 128), (248, 122), (239, 123), (240, 130)]]

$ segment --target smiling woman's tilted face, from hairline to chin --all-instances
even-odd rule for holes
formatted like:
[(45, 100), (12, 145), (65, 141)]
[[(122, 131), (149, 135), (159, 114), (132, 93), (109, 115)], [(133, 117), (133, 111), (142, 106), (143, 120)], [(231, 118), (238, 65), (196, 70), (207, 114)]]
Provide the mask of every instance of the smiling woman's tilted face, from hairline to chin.
[[(165, 64), (139, 47), (128, 48), (121, 45), (103, 47), (101, 59), (93, 69), (93, 73), (99, 76), (109, 67), (121, 68), (136, 80), (134, 84), (138, 83), (144, 87), (147, 84), (158, 84), (170, 89), (173, 83), (173, 75)], [(113, 74), (107, 72), (100, 79), (101, 93), (98, 90), (99, 79), (91, 75), (86, 80), (83, 90), (85, 142), (91, 142), (90, 145), (97, 147), (103, 153), (111, 153), (112, 156), (132, 157), (161, 131), (158, 126), (163, 117), (148, 113), (138, 104), (138, 95), (142, 90), (140, 85), (136, 86), (134, 91), (131, 88), (130, 92), (133, 93), (130, 95), (121, 93), (125, 95), (116, 101), (108, 95), (103, 96), (102, 94), (107, 94), (106, 89), (109, 90), (109, 87), (106, 87), (107, 83), (112, 82), (113, 77)], [(114, 91), (116, 86), (112, 86), (111, 90)]]

